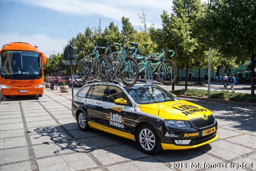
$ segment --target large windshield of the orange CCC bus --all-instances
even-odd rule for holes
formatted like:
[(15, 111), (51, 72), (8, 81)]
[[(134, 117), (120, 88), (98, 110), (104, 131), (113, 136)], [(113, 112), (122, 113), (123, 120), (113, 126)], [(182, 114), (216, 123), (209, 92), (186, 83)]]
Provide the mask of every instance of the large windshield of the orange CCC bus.
[(3, 50), (0, 71), (4, 79), (42, 78), (42, 61), (38, 52)]

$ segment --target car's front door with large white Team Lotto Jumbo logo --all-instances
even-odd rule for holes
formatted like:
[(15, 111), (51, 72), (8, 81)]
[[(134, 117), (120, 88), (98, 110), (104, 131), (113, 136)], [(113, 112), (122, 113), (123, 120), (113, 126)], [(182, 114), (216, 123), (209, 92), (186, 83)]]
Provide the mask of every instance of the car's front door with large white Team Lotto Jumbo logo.
[[(114, 100), (119, 98), (125, 99), (127, 103), (125, 105), (115, 104)], [(119, 87), (110, 85), (103, 103), (104, 129), (131, 136), (131, 111), (132, 105), (126, 94)]]

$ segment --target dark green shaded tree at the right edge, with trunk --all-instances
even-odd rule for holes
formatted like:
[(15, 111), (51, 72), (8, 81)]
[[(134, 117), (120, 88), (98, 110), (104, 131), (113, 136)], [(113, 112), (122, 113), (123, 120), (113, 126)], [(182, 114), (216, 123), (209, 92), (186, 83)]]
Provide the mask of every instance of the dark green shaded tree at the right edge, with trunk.
[(236, 64), (251, 60), (251, 97), (254, 97), (256, 1), (211, 0), (199, 21), (206, 43)]

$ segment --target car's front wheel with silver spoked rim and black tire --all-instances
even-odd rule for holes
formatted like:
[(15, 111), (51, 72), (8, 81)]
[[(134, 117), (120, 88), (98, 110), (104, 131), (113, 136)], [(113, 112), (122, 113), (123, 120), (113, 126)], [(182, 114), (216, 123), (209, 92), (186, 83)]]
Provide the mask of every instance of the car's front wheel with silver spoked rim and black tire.
[(150, 124), (144, 124), (139, 127), (136, 134), (136, 141), (140, 149), (146, 154), (153, 155), (162, 150), (157, 131)]

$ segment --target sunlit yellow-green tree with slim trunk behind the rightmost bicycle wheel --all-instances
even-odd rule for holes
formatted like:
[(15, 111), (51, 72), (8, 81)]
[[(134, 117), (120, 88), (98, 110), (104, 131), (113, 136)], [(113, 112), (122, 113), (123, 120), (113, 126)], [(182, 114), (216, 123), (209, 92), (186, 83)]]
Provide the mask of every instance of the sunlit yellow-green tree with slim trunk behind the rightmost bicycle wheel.
[[(175, 63), (178, 67), (186, 68), (185, 90), (187, 89), (188, 69), (198, 61), (204, 61), (206, 46), (198, 41), (200, 35), (195, 32), (194, 21), (201, 15), (203, 5), (200, 0), (174, 0), (173, 13), (169, 16), (166, 11), (161, 15), (163, 22), (163, 44), (166, 47), (177, 48)], [(198, 68), (203, 67), (198, 63)]]

